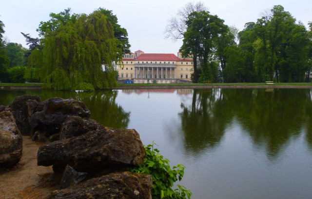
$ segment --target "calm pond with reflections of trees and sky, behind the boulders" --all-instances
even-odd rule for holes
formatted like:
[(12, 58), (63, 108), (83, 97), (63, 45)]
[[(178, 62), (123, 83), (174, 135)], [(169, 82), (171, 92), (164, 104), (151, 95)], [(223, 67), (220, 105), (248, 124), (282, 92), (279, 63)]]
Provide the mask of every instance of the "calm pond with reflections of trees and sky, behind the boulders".
[(155, 140), (193, 199), (312, 198), (312, 89), (164, 89), (93, 93), (0, 90), (74, 98), (91, 118)]

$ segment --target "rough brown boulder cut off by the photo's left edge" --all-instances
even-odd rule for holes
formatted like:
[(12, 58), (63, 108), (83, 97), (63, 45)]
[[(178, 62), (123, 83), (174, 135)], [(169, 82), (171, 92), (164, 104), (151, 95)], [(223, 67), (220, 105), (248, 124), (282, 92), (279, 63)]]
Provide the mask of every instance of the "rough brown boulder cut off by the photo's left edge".
[(0, 167), (11, 167), (20, 161), (23, 139), (12, 112), (0, 112)]

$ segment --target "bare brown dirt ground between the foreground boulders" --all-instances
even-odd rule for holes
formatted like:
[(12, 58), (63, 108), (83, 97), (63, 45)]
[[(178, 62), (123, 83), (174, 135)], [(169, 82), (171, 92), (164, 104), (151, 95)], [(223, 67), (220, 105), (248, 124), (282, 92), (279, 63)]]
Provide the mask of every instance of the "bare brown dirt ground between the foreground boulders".
[(59, 188), (60, 175), (52, 166), (38, 166), (37, 152), (42, 143), (23, 136), (20, 162), (10, 169), (0, 169), (0, 199), (44, 199)]

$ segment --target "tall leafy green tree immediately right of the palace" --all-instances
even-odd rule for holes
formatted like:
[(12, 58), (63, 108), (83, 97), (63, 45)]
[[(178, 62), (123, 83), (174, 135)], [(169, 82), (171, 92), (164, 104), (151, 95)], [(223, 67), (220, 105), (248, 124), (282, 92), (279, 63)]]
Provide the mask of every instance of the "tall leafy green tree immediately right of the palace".
[[(183, 55), (193, 54), (201, 64), (202, 73), (199, 81), (215, 80), (215, 52), (223, 54), (224, 43), (230, 29), (216, 15), (209, 12), (193, 12), (186, 21), (187, 31), (184, 33), (181, 51)], [(232, 35), (233, 36), (233, 35)], [(232, 37), (234, 39), (234, 37)], [(228, 39), (228, 38), (227, 38)], [(223, 42), (223, 43), (222, 43)], [(223, 45), (221, 47), (221, 45)]]

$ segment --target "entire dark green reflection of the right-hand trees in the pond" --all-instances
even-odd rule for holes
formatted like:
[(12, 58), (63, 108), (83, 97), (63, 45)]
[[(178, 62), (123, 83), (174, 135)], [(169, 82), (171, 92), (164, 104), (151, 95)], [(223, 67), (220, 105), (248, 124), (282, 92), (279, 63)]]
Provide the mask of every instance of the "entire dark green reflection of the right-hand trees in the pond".
[(312, 148), (311, 99), (310, 89), (194, 90), (192, 105), (182, 103), (179, 114), (186, 146), (194, 152), (215, 147), (235, 117), (270, 159), (305, 126)]

